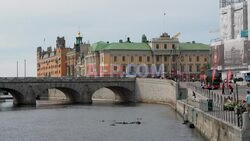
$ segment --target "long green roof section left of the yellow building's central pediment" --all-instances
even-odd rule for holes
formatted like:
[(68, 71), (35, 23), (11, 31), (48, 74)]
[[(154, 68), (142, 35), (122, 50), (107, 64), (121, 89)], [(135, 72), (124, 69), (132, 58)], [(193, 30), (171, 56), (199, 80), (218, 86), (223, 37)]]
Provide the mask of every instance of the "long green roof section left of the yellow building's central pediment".
[(150, 51), (150, 46), (147, 43), (105, 43), (98, 42), (91, 46), (92, 51), (102, 50), (146, 50)]

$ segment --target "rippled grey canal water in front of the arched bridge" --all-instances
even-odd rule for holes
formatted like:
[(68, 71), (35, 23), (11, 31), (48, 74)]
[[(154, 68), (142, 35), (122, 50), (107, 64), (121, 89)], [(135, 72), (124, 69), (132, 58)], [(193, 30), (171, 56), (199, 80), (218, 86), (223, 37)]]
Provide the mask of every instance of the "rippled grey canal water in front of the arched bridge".
[(0, 141), (205, 141), (166, 105), (0, 103)]

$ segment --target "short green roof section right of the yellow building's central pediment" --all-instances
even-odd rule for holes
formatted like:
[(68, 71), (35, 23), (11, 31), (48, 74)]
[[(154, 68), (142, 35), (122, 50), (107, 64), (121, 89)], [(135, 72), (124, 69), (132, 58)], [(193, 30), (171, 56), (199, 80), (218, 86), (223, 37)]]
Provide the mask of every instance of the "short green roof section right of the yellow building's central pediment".
[(180, 43), (180, 50), (205, 50), (209, 51), (210, 46), (202, 43)]

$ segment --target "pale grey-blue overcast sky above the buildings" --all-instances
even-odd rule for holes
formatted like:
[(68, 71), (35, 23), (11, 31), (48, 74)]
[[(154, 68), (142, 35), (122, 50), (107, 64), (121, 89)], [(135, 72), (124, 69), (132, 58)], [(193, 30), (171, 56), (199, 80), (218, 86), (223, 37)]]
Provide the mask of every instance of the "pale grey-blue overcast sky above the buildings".
[(90, 43), (139, 42), (166, 31), (208, 44), (217, 37), (208, 31), (218, 29), (218, 7), (218, 0), (1, 0), (0, 77), (15, 77), (17, 61), (23, 76), (24, 59), (27, 75), (36, 76), (36, 48), (54, 47), (57, 36), (72, 47), (79, 29)]

